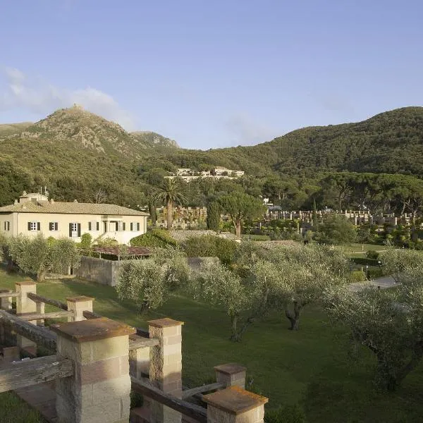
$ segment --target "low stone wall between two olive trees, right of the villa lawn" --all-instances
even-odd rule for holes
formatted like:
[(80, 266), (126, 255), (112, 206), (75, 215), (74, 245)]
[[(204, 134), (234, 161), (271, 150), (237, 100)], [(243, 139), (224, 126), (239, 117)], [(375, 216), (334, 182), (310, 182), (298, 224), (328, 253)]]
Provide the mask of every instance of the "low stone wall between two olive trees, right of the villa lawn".
[(75, 269), (75, 276), (103, 285), (116, 286), (120, 266), (121, 262), (82, 256), (80, 266)]

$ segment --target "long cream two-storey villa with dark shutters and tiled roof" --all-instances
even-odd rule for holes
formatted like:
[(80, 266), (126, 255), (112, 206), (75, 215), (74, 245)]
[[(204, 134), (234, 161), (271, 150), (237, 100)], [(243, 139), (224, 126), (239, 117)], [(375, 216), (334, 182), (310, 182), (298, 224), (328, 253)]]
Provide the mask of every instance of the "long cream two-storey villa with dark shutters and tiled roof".
[(116, 206), (55, 202), (37, 192), (25, 191), (15, 204), (0, 207), (0, 233), (6, 236), (42, 234), (46, 238), (69, 237), (80, 242), (81, 235), (90, 233), (93, 239), (114, 238), (128, 244), (131, 238), (147, 231), (145, 212)]

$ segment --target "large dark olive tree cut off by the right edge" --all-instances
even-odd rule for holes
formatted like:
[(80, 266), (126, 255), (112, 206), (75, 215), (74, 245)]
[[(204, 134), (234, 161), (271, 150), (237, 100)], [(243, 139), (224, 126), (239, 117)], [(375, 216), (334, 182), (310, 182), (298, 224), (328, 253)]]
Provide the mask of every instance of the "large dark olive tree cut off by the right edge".
[(328, 293), (332, 321), (348, 328), (353, 341), (376, 357), (375, 382), (394, 391), (423, 357), (423, 269), (407, 273), (398, 290), (372, 286)]

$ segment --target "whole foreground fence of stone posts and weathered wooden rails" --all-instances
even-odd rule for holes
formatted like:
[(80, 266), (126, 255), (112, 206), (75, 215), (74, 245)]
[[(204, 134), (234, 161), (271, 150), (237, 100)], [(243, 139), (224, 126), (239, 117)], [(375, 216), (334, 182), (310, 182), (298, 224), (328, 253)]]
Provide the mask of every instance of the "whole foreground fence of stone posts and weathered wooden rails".
[[(15, 348), (32, 357), (5, 367), (11, 358), (3, 348), (0, 393), (55, 381), (59, 423), (264, 422), (267, 398), (245, 391), (245, 367), (238, 364), (215, 367), (213, 384), (183, 388), (183, 322), (152, 320), (145, 331), (94, 313), (93, 298), (65, 303), (36, 290), (24, 281), (16, 292), (0, 292), (0, 343), (6, 332), (16, 333)], [(46, 304), (59, 310), (46, 313)], [(68, 322), (44, 326), (59, 318)], [(36, 357), (37, 346), (51, 355)], [(144, 398), (131, 415), (130, 391)]]

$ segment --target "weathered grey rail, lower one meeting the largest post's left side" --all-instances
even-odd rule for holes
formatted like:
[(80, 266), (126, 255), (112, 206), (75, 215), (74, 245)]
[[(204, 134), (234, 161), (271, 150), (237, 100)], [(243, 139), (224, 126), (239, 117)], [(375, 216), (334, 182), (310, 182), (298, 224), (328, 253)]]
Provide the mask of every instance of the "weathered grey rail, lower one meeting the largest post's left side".
[(14, 362), (8, 369), (0, 370), (0, 393), (72, 375), (72, 360), (57, 360), (56, 355)]

